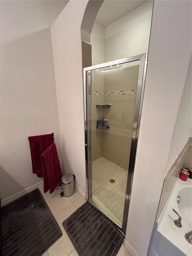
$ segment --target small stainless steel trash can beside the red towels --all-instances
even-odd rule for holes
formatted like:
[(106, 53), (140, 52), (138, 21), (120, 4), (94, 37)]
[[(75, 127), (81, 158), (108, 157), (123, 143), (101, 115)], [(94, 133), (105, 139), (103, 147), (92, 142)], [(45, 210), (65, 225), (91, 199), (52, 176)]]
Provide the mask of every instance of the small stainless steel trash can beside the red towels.
[(64, 197), (70, 197), (75, 192), (75, 184), (74, 184), (75, 175), (73, 174), (65, 174), (62, 176), (62, 192), (64, 193)]

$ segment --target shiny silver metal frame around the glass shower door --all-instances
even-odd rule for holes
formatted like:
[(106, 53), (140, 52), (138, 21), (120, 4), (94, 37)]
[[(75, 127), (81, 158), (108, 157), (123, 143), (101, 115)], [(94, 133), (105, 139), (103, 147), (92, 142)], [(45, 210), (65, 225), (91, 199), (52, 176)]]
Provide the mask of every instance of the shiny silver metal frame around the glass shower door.
[[(83, 86), (84, 86), (84, 127), (85, 127), (85, 162), (86, 162), (86, 196), (90, 203), (96, 206), (101, 212), (100, 209), (92, 200), (91, 200), (91, 71), (98, 69), (109, 67), (117, 64), (123, 64), (127, 62), (140, 61), (139, 66), (139, 75), (138, 75), (138, 83), (137, 83), (137, 96), (136, 96), (136, 104), (135, 104), (135, 112), (134, 112), (134, 124), (133, 124), (133, 133), (131, 140), (131, 152), (129, 159), (129, 168), (128, 168), (128, 178), (127, 178), (127, 187), (125, 194), (125, 204), (124, 204), (124, 213), (123, 213), (123, 223), (122, 228), (113, 221), (114, 224), (122, 231), (123, 234), (126, 232), (127, 221), (128, 221), (128, 211), (131, 200), (131, 190), (133, 184), (133, 174), (134, 174), (134, 165), (135, 165), (135, 157), (137, 150), (137, 141), (140, 130), (140, 120), (141, 120), (141, 111), (143, 104), (143, 95), (144, 95), (144, 85), (145, 85), (145, 76), (146, 76), (146, 53), (139, 54), (136, 56), (131, 56), (124, 59), (119, 59), (116, 61), (106, 62), (99, 65), (83, 68)], [(90, 106), (90, 107), (89, 107)], [(105, 212), (103, 212), (105, 214)], [(109, 216), (107, 216), (109, 218)]]

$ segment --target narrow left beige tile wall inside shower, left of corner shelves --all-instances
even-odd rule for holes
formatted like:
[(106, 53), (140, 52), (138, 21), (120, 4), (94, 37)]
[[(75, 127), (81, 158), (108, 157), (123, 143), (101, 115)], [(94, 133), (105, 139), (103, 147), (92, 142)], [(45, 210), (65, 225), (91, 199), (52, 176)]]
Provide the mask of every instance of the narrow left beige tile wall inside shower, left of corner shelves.
[[(92, 92), (104, 91), (104, 73), (92, 71)], [(91, 95), (91, 160), (94, 161), (102, 156), (103, 133), (96, 129), (97, 120), (103, 119), (103, 109), (96, 108), (96, 105), (103, 104), (104, 95)]]

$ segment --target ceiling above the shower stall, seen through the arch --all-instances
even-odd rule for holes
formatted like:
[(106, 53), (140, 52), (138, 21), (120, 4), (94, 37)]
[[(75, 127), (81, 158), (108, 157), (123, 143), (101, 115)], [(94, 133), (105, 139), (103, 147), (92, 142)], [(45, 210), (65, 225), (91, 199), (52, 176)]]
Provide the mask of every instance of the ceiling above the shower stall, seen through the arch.
[(145, 0), (105, 0), (96, 17), (96, 22), (106, 28), (116, 20), (133, 11)]

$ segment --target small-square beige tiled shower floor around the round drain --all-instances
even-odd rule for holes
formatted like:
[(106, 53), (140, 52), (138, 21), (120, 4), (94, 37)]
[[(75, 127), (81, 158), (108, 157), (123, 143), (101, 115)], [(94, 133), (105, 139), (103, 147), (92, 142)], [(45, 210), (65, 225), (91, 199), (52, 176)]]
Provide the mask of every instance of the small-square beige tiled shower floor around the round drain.
[[(100, 157), (92, 162), (92, 194), (122, 222), (128, 171)], [(115, 179), (115, 183), (110, 183)]]

